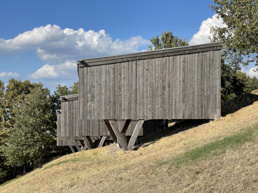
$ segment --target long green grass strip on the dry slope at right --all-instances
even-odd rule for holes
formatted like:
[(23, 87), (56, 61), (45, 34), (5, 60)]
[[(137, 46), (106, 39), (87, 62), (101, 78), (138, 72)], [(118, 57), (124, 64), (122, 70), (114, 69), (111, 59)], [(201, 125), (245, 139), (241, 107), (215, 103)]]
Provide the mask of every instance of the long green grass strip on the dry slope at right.
[(166, 161), (158, 162), (162, 166), (164, 164), (171, 164), (174, 166), (181, 166), (190, 162), (198, 161), (200, 159), (217, 156), (226, 152), (227, 149), (237, 148), (247, 142), (253, 142), (258, 135), (258, 124), (249, 127), (237, 134), (225, 137), (221, 140), (216, 140), (212, 143), (201, 147), (193, 148), (184, 152), (182, 155), (173, 157)]

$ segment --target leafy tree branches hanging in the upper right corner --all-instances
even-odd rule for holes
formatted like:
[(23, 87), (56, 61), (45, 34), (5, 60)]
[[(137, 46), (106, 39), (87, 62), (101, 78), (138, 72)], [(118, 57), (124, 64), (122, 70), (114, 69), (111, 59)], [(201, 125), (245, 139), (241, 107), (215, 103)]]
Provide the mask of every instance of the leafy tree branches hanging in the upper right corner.
[[(258, 65), (258, 4), (255, 0), (214, 0), (210, 5), (223, 19), (225, 28), (211, 27), (213, 42), (222, 41), (225, 61), (236, 70), (255, 62)], [(254, 54), (254, 56), (253, 56)], [(247, 59), (244, 59), (247, 56)]]

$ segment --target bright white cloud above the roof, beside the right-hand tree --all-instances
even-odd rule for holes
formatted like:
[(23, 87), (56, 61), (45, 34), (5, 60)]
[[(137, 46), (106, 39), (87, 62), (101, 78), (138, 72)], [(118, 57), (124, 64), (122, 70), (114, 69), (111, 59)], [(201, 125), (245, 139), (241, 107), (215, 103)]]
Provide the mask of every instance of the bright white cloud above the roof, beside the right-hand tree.
[(210, 27), (211, 26), (217, 26), (217, 27), (227, 27), (226, 24), (223, 24), (222, 19), (217, 19), (217, 14), (213, 15), (212, 18), (208, 18), (207, 20), (204, 20), (202, 22), (202, 25), (200, 26), (199, 32), (197, 32), (195, 35), (192, 36), (192, 39), (190, 40), (190, 45), (195, 44), (205, 44), (210, 43), (211, 41), (208, 39), (210, 34)]

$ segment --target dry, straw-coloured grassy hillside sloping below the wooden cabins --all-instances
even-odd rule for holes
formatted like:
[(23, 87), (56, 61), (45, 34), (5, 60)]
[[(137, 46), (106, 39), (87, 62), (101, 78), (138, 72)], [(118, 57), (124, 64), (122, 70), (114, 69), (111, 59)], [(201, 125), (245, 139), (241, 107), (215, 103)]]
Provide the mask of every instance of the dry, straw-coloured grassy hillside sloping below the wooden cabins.
[(113, 144), (63, 156), (0, 192), (258, 192), (258, 102), (181, 130), (137, 151)]

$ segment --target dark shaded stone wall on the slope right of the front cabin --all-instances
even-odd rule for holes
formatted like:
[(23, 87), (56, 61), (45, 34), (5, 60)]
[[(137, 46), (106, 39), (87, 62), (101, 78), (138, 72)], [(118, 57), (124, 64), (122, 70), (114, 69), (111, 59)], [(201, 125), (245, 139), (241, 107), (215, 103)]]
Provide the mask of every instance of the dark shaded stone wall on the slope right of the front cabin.
[(221, 115), (225, 116), (258, 101), (258, 89), (233, 98), (231, 101), (221, 103)]

